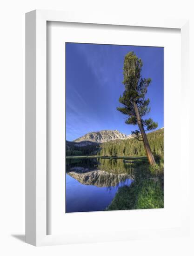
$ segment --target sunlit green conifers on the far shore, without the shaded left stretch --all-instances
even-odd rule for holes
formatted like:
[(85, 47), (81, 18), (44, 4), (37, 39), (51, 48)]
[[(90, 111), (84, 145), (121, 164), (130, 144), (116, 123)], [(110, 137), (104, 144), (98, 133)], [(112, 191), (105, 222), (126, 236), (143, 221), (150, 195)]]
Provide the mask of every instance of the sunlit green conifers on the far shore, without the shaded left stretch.
[[(147, 138), (154, 155), (164, 154), (164, 129), (147, 134)], [(126, 155), (126, 156), (143, 156), (146, 151), (143, 141), (136, 139), (116, 140), (102, 143), (98, 155)]]

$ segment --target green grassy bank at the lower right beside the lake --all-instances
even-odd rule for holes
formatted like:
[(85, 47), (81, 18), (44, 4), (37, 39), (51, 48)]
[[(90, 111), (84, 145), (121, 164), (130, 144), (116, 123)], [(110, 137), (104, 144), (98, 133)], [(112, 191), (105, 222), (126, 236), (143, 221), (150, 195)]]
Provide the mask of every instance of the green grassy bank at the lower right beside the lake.
[(131, 186), (118, 189), (106, 210), (164, 208), (163, 168), (150, 168), (147, 163), (135, 170)]

